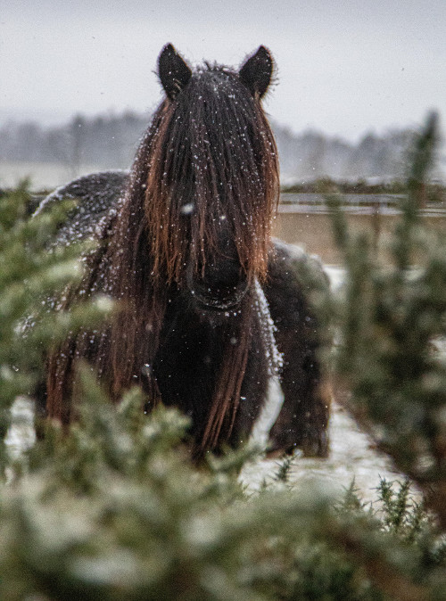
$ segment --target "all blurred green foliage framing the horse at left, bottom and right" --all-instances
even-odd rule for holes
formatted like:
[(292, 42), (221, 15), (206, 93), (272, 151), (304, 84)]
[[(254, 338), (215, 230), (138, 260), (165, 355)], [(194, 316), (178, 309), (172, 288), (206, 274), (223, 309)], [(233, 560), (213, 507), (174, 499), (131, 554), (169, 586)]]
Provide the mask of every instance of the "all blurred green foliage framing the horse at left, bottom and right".
[[(341, 501), (318, 482), (293, 487), (289, 460), (252, 493), (238, 473), (254, 449), (193, 465), (184, 416), (166, 408), (145, 416), (137, 390), (113, 408), (83, 366), (78, 423), (66, 432), (47, 424), (45, 439), (19, 456), (2, 447), (1, 599), (444, 599), (446, 381), (434, 344), (445, 325), (446, 254), (417, 217), (434, 126), (430, 119), (418, 141), (391, 267), (376, 265), (366, 238), (351, 239), (331, 202), (349, 271), (336, 307), (340, 388), (425, 501), (412, 498), (409, 481), (382, 482), (379, 509), (353, 485)], [(97, 301), (69, 315), (46, 310), (40, 299), (78, 276), (78, 249), (47, 251), (62, 215), (26, 218), (25, 187), (1, 202), (4, 440), (12, 401), (37, 381), (51, 336), (106, 311)], [(420, 243), (424, 262), (414, 270)], [(31, 315), (37, 325), (24, 336)]]

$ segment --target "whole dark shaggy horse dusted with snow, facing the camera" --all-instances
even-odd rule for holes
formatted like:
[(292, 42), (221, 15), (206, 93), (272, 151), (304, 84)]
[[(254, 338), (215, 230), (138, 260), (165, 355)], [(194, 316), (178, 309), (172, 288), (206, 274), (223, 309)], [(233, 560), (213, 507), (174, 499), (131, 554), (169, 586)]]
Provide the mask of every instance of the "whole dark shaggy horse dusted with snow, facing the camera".
[(192, 70), (166, 45), (164, 97), (130, 173), (80, 177), (40, 204), (37, 212), (75, 199), (57, 243), (97, 243), (59, 308), (97, 294), (117, 305), (50, 352), (37, 399), (45, 416), (76, 419), (76, 371), (87, 361), (113, 402), (139, 385), (146, 412), (180, 408), (202, 457), (247, 439), (279, 375), (284, 404), (270, 449), (326, 456), (318, 323), (293, 252), (271, 238), (279, 173), (261, 100), (273, 70), (265, 46), (239, 70)]

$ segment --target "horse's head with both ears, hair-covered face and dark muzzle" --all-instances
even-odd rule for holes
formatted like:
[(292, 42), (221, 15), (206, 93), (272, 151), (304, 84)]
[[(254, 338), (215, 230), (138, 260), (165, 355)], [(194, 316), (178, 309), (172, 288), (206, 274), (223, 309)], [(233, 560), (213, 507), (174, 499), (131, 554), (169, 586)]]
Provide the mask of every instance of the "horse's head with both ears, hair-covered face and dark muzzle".
[(278, 168), (260, 99), (272, 72), (263, 46), (240, 70), (193, 71), (172, 45), (158, 60), (166, 98), (143, 157), (153, 276), (202, 309), (235, 308), (266, 275)]

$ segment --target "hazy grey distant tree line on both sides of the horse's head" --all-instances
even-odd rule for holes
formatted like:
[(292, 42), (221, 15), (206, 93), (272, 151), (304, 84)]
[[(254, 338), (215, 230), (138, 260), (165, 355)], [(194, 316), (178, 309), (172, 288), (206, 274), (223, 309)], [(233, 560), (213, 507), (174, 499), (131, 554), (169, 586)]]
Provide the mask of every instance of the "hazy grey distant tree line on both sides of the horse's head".
[[(57, 127), (10, 121), (0, 126), (0, 161), (61, 163), (73, 177), (81, 165), (127, 169), (149, 120), (149, 114), (126, 111), (95, 117), (78, 114)], [(273, 128), (286, 184), (305, 184), (320, 177), (392, 181), (407, 175), (407, 153), (414, 136), (409, 129), (383, 136), (368, 133), (354, 144), (316, 131), (297, 135), (277, 124)]]

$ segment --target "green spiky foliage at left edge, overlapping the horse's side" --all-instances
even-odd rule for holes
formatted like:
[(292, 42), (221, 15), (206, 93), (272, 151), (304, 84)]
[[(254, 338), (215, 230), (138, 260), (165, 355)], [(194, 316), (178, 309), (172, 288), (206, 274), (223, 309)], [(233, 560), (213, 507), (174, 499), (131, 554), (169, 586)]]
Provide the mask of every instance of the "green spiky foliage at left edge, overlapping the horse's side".
[(57, 316), (46, 300), (81, 275), (75, 245), (49, 251), (48, 241), (67, 207), (29, 218), (28, 182), (0, 198), (0, 473), (12, 401), (32, 389), (41, 375), (45, 346), (85, 320), (110, 309), (95, 301), (81, 312)]

